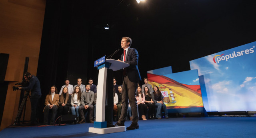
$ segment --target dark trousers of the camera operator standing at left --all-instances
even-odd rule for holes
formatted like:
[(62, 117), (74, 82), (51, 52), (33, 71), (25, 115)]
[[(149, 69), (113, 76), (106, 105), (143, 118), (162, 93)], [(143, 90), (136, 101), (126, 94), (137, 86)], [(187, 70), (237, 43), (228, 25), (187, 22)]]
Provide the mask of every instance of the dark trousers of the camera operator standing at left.
[(31, 95), (30, 97), (30, 103), (31, 103), (31, 115), (30, 115), (30, 122), (32, 124), (36, 123), (36, 118), (37, 118), (37, 104), (40, 99), (41, 95)]

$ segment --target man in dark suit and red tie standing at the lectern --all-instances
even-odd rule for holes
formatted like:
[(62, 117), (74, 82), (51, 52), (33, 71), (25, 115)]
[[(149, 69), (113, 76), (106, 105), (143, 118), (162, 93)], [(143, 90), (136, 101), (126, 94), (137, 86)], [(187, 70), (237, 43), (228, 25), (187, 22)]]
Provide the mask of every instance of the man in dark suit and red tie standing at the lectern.
[(138, 51), (134, 48), (130, 48), (132, 39), (129, 37), (123, 37), (121, 40), (121, 47), (124, 49), (124, 53), (121, 55), (121, 60), (125, 63), (129, 63), (130, 66), (124, 68), (124, 81), (122, 85), (122, 112), (116, 125), (124, 126), (128, 112), (128, 99), (132, 109), (132, 124), (127, 127), (127, 130), (133, 130), (139, 128), (138, 124), (138, 104), (135, 98), (138, 82), (141, 81), (140, 72), (138, 69)]

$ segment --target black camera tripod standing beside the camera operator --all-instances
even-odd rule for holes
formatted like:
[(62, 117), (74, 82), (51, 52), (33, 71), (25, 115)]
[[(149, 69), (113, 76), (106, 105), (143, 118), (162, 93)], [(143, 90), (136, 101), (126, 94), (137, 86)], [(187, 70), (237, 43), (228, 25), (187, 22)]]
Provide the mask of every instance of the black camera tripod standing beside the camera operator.
[(14, 126), (20, 126), (20, 117), (21, 117), (23, 109), (24, 109), (24, 113), (23, 113), (22, 123), (24, 123), (25, 112), (26, 112), (26, 103), (27, 103), (28, 97), (30, 99), (29, 91), (26, 91), (26, 94), (23, 97), (22, 103), (20, 104), (20, 108), (18, 110), (18, 114), (17, 114), (17, 116), (16, 116), (16, 118), (14, 120), (14, 124), (13, 124)]

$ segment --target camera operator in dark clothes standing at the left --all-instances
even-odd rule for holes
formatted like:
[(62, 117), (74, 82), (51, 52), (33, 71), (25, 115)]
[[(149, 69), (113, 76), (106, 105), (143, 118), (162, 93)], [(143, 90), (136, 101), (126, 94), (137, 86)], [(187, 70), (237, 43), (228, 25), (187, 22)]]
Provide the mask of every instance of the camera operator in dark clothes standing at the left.
[(41, 88), (40, 88), (40, 82), (38, 78), (34, 75), (31, 75), (29, 72), (24, 73), (24, 78), (26, 81), (29, 82), (28, 87), (18, 87), (18, 90), (25, 90), (29, 91), (31, 90), (31, 97), (30, 97), (30, 102), (31, 102), (31, 116), (30, 116), (30, 124), (31, 125), (36, 125), (36, 108), (38, 101), (42, 95), (41, 93)]

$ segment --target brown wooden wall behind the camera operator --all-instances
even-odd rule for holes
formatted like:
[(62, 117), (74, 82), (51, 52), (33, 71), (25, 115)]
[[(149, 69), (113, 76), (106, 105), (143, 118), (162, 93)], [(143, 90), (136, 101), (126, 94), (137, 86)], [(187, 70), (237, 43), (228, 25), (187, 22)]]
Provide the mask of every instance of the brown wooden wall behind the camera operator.
[[(36, 75), (46, 0), (0, 0), (0, 53), (8, 53), (5, 81), (9, 82), (0, 130), (13, 124), (18, 112), (20, 91), (12, 91), (22, 81), (25, 57), (28, 72)], [(25, 120), (30, 120), (28, 99)]]

